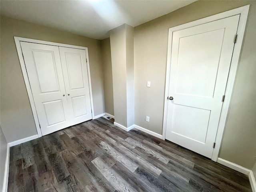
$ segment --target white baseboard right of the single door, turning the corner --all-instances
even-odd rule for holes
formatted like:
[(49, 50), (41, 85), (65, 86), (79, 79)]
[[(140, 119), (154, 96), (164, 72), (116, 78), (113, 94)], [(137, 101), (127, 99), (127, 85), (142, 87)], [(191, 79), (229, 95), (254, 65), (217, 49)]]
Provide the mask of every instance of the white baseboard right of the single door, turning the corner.
[(252, 170), (244, 168), (244, 167), (242, 167), (238, 164), (232, 163), (232, 162), (224, 160), (222, 158), (218, 158), (217, 162), (226, 166), (226, 167), (232, 168), (232, 169), (234, 169), (234, 170), (236, 170), (240, 173), (248, 175), (249, 180), (250, 180), (250, 184), (251, 184), (251, 187), (252, 187), (252, 192), (256, 192), (256, 182), (255, 182), (255, 177), (253, 175)]

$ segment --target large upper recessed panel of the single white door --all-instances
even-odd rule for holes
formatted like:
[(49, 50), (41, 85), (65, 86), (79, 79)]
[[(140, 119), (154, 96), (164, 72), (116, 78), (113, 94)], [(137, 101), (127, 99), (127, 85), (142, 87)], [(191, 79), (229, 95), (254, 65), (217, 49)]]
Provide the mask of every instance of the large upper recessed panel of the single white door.
[(223, 37), (219, 29), (180, 38), (176, 93), (213, 97)]

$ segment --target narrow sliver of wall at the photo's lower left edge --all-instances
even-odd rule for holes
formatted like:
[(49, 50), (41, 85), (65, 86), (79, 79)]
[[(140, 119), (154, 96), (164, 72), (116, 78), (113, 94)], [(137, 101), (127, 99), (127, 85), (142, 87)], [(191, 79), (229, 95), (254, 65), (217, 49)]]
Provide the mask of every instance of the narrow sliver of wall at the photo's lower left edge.
[(3, 189), (7, 142), (0, 125), (0, 191)]

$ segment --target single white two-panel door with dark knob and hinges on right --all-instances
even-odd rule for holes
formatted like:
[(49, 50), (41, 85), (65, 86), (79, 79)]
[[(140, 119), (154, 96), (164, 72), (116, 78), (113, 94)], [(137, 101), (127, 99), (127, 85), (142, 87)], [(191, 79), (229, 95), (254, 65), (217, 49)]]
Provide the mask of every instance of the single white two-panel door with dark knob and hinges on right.
[(239, 15), (173, 32), (166, 139), (212, 158)]

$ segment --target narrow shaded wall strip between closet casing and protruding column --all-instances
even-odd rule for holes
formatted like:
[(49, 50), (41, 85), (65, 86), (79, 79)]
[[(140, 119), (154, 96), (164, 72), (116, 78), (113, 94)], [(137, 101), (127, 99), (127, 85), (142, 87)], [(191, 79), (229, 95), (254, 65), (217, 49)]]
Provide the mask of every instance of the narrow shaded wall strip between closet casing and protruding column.
[(104, 68), (104, 92), (106, 113), (114, 116), (112, 62), (110, 50), (110, 38), (101, 41), (102, 62)]

